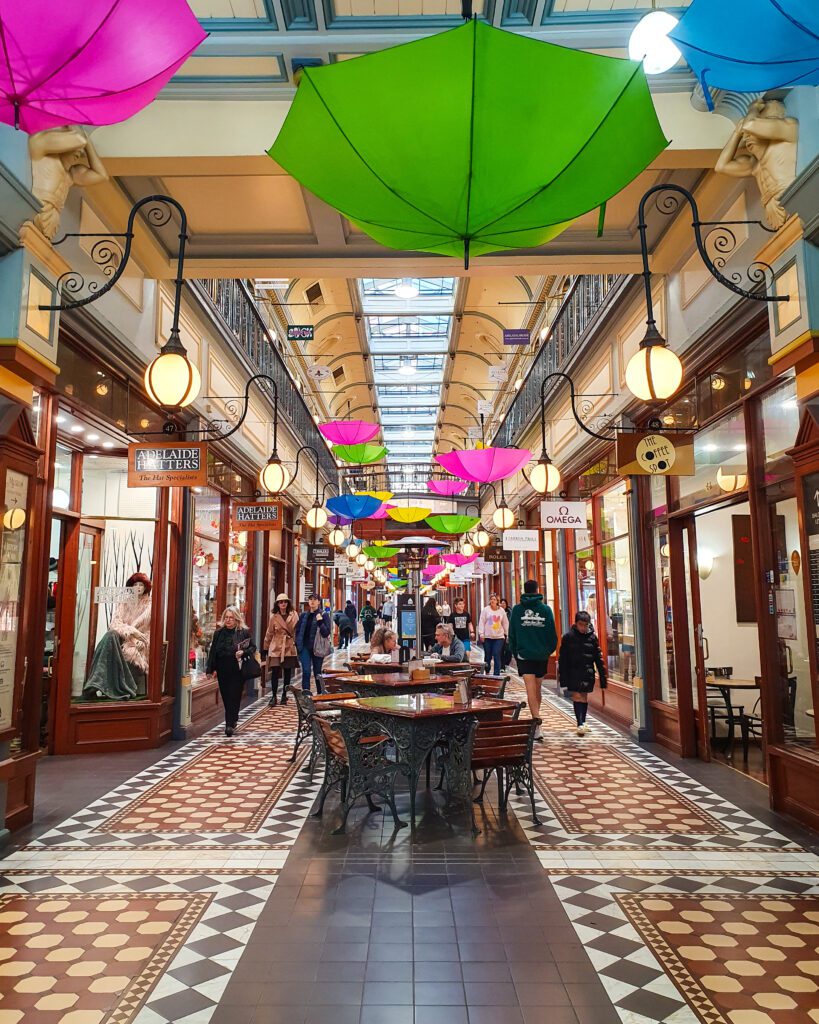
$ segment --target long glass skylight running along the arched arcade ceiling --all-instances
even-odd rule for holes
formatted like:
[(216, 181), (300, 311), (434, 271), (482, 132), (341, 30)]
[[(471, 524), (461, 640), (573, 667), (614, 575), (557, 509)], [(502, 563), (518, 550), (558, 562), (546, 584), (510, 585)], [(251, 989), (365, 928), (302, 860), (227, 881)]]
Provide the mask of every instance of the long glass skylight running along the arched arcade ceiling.
[[(455, 278), (365, 278), (359, 282), (376, 397), (393, 490), (429, 478), (455, 313)], [(406, 468), (416, 464), (407, 474)]]

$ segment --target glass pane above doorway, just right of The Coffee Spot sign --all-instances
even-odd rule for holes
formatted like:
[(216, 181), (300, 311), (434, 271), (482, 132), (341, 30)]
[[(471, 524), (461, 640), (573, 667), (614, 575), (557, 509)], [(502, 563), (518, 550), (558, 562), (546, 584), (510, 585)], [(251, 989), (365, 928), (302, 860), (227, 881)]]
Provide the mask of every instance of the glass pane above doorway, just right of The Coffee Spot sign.
[(681, 507), (746, 489), (747, 450), (741, 409), (696, 434), (694, 463), (693, 476), (679, 477)]

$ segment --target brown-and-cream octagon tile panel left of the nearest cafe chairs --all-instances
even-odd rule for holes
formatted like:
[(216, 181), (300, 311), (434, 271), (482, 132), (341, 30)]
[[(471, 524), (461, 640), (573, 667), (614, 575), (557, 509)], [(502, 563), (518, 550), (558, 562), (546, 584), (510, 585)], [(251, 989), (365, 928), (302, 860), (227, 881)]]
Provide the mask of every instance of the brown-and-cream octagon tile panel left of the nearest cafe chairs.
[(214, 743), (97, 831), (255, 833), (298, 770), (287, 746)]

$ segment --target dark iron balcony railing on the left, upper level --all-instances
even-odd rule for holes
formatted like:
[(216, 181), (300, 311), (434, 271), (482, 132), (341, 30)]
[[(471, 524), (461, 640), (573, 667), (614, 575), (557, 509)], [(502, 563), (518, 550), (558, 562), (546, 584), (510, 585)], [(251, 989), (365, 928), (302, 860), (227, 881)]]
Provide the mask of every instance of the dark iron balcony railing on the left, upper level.
[(276, 382), (279, 413), (289, 422), (299, 442), (312, 444), (318, 452), (321, 470), (328, 479), (335, 481), (338, 474), (336, 460), (296, 387), (251, 292), (243, 282), (231, 279), (193, 281), (191, 284), (221, 317), (239, 350), (255, 371), (267, 374)]

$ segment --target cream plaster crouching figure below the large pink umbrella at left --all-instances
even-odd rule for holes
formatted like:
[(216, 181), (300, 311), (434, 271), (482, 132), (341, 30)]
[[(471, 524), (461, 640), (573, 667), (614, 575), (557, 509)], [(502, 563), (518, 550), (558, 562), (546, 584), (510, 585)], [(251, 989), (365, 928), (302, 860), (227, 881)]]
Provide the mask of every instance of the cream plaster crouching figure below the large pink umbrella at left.
[(87, 187), (107, 180), (96, 150), (82, 128), (66, 125), (29, 138), (32, 191), (42, 204), (34, 223), (52, 241), (73, 185)]

